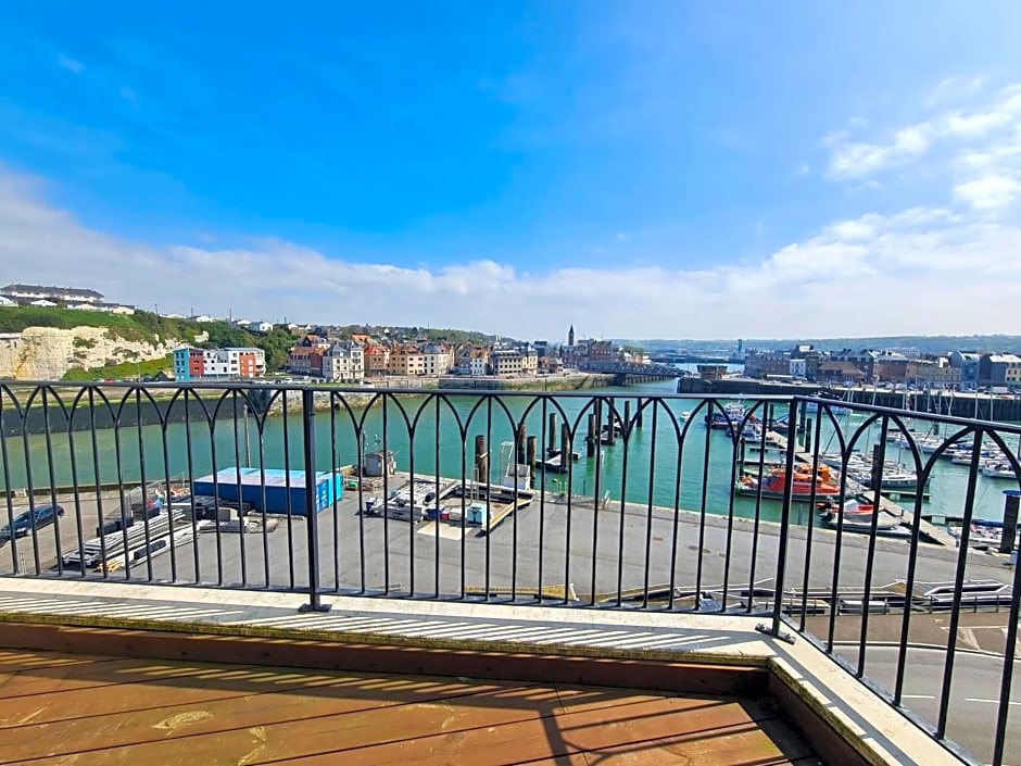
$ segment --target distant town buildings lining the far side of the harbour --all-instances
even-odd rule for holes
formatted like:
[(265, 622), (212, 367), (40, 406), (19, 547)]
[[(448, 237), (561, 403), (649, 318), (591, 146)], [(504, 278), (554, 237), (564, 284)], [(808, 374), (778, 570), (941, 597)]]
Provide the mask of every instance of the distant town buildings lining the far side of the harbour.
[[(110, 302), (91, 289), (23, 284), (0, 288), (0, 307), (20, 306), (122, 316), (141, 311), (129, 303)], [(635, 341), (576, 338), (573, 326), (566, 329), (563, 341), (521, 341), (466, 331), (451, 331), (451, 337), (444, 337), (442, 332), (420, 328), (301, 325), (263, 318), (154, 313), (162, 319), (188, 321), (199, 326), (227, 325), (252, 340), (248, 346), (216, 346), (209, 341), (210, 334), (196, 334), (191, 344), (173, 350), (173, 363), (161, 376), (177, 380), (260, 378), (274, 374), (330, 382), (373, 382), (391, 377), (530, 378), (576, 372), (635, 372), (654, 366), (661, 369), (664, 365), (699, 362), (695, 367), (697, 375), (708, 380), (741, 376), (819, 385), (1021, 391), (1021, 356), (994, 349), (905, 353), (894, 348), (823, 350), (812, 343), (745, 349), (739, 340), (722, 350), (726, 355), (711, 357), (663, 348), (664, 341), (654, 341), (659, 348), (646, 351)], [(270, 335), (279, 338), (281, 334), (286, 334), (286, 357), (278, 354), (272, 364), (261, 338)], [(2, 335), (7, 343), (16, 343), (18, 334)]]

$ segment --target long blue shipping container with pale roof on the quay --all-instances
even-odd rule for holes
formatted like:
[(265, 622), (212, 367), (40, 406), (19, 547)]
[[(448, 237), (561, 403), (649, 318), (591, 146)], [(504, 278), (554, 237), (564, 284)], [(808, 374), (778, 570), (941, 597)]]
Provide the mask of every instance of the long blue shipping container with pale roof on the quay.
[[(265, 477), (265, 485), (263, 484)], [(340, 500), (343, 492), (343, 476), (336, 472), (315, 475), (316, 511)], [(240, 479), (240, 480), (239, 480)], [(305, 514), (305, 472), (279, 468), (245, 468), (231, 466), (215, 475), (203, 476), (192, 482), (194, 494), (212, 494), (220, 500), (251, 503), (259, 512), (294, 515)]]

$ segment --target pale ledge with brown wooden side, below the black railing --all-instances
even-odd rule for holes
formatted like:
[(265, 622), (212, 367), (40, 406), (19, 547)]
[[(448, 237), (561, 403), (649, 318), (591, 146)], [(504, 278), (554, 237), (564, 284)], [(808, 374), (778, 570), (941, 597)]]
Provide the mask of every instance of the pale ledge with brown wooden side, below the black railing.
[(962, 762), (810, 642), (755, 617), (0, 578), (0, 645), (771, 696), (831, 764)]

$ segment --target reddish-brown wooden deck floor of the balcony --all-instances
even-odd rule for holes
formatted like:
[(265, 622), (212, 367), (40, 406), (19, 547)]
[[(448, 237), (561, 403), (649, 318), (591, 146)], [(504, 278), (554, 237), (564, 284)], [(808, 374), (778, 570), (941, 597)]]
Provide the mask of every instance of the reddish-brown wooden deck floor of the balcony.
[(0, 764), (820, 763), (767, 700), (0, 650)]

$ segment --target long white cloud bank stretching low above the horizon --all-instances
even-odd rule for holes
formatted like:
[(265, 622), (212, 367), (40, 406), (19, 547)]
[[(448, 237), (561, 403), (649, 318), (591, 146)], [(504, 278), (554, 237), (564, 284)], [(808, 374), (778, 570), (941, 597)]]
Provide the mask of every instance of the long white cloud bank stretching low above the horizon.
[(162, 311), (522, 338), (560, 337), (571, 323), (633, 338), (1021, 331), (1009, 310), (1021, 292), (1021, 227), (951, 210), (869, 213), (757, 261), (711, 268), (522, 274), (486, 259), (433, 268), (365, 263), (275, 240), (149, 244), (83, 225), (43, 190), (0, 168), (5, 278), (90, 287)]

